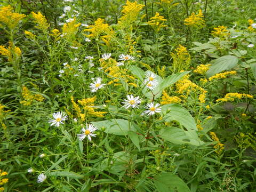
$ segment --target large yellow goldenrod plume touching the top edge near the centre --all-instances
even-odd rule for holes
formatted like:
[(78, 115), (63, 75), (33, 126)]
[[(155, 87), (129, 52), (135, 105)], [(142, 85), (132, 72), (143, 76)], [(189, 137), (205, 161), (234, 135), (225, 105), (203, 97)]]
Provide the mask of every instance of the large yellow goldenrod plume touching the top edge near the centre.
[(137, 20), (140, 10), (144, 7), (142, 4), (137, 4), (137, 1), (126, 1), (123, 6), (123, 16), (119, 19), (118, 24), (121, 26), (131, 26), (131, 23)]

